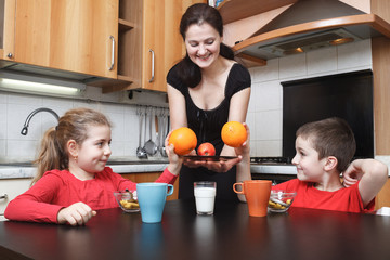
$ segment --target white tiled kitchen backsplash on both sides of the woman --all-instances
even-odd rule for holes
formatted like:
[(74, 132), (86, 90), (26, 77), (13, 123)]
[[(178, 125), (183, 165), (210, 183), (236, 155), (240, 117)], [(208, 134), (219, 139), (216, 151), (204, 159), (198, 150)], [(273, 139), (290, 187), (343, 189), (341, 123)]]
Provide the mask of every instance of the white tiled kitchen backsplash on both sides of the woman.
[[(251, 131), (251, 156), (282, 155), (282, 81), (370, 68), (370, 40), (274, 58), (266, 66), (250, 68), (252, 92), (247, 123)], [(99, 88), (88, 87), (87, 93), (92, 100), (102, 99)], [(115, 104), (115, 93), (105, 94), (104, 99), (112, 103), (0, 92), (1, 160), (34, 159), (43, 132), (56, 125), (51, 114), (39, 113), (31, 119), (28, 134), (22, 135), (26, 117), (34, 109), (49, 107), (62, 116), (70, 107), (79, 106), (99, 109), (113, 121), (113, 156), (135, 157), (136, 106)]]

